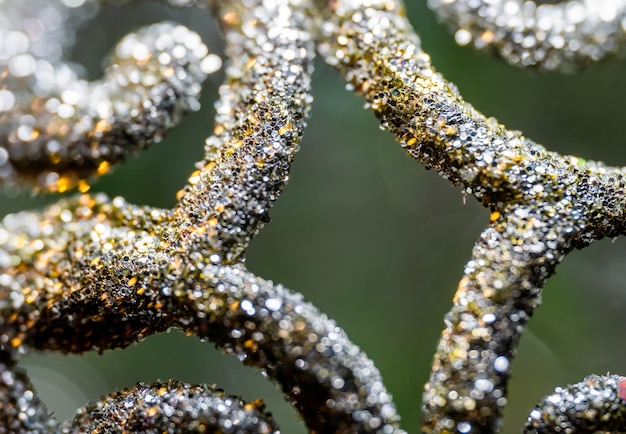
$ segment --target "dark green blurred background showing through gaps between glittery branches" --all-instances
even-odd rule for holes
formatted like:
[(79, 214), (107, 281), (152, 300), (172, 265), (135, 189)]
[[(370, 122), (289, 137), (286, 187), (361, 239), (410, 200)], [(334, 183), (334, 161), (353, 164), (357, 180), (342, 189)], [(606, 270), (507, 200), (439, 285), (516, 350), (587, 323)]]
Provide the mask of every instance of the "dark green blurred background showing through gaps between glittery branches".
[[(624, 60), (577, 75), (540, 75), (455, 46), (425, 1), (412, 1), (408, 12), (439, 71), (485, 114), (549, 149), (626, 164)], [(79, 32), (71, 56), (95, 78), (122, 35), (163, 19), (186, 24), (221, 50), (217, 27), (205, 13), (136, 2), (105, 8)], [(206, 82), (201, 112), (92, 191), (171, 207), (201, 158), (220, 81), (218, 74)], [(248, 266), (303, 293), (334, 318), (382, 371), (404, 428), (417, 432), (442, 318), (488, 212), (471, 198), (464, 204), (459, 188), (405, 156), (362, 109), (363, 101), (343, 88), (338, 75), (318, 62), (302, 150), (272, 222), (249, 249)], [(4, 194), (0, 214), (51, 200)], [(513, 364), (504, 432), (519, 432), (528, 411), (556, 385), (590, 373), (626, 373), (625, 257), (624, 240), (603, 241), (570, 255), (550, 280)], [(283, 432), (306, 432), (258, 372), (177, 332), (102, 355), (29, 355), (23, 365), (62, 419), (115, 388), (175, 377), (217, 383), (248, 399), (262, 397)]]

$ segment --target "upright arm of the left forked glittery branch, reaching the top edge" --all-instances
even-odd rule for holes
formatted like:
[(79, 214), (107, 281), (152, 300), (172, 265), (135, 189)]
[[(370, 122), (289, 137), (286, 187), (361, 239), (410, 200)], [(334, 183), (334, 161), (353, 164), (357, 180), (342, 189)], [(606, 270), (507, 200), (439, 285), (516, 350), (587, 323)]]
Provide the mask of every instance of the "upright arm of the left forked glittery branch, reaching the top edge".
[(313, 21), (297, 2), (220, 3), (230, 63), (214, 135), (175, 209), (184, 248), (212, 262), (242, 260), (289, 167), (311, 103)]

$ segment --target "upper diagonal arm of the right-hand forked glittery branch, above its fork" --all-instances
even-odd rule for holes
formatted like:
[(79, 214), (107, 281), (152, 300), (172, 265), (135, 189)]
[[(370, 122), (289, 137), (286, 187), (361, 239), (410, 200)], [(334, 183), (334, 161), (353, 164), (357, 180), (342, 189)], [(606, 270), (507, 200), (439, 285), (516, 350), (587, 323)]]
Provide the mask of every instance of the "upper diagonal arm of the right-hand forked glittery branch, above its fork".
[(599, 183), (605, 175), (623, 177), (621, 169), (548, 152), (466, 103), (432, 68), (401, 4), (333, 5), (319, 45), (326, 61), (363, 95), (409, 155), (462, 184), (484, 205), (555, 201), (576, 190), (584, 176)]

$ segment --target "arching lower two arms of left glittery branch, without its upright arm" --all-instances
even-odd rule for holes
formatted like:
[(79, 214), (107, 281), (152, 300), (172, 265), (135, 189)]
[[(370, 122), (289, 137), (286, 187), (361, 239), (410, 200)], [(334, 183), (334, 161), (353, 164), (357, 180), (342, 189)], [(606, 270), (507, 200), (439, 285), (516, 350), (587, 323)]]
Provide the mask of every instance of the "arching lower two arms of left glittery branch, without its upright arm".
[(163, 236), (175, 222), (103, 195), (6, 217), (1, 354), (119, 348), (176, 327), (266, 372), (313, 432), (402, 432), (378, 370), (343, 330), (240, 266), (179, 255)]

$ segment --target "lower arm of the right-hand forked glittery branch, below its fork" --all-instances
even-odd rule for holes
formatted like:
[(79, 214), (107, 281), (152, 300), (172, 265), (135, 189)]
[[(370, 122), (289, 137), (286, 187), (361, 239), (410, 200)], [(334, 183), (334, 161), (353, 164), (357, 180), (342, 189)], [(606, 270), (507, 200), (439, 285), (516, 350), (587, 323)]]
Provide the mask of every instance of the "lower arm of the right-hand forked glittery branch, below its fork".
[(543, 284), (571, 248), (562, 230), (571, 225), (558, 206), (492, 214), (445, 318), (424, 392), (424, 433), (499, 430), (515, 349)]

